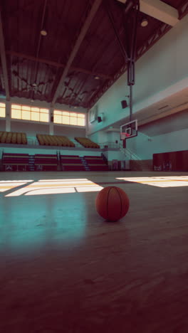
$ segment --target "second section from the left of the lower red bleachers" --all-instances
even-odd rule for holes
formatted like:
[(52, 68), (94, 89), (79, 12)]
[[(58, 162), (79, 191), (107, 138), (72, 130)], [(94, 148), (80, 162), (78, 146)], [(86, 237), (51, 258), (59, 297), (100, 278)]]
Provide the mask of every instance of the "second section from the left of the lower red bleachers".
[(35, 171), (57, 171), (58, 156), (56, 154), (35, 154), (34, 155)]

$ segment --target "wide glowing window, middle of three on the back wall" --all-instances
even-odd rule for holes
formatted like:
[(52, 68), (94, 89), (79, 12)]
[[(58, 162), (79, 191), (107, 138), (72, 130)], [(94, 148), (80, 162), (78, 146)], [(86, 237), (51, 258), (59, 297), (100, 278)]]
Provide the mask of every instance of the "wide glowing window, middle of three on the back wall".
[(11, 118), (31, 120), (33, 122), (49, 122), (49, 110), (28, 105), (11, 105)]

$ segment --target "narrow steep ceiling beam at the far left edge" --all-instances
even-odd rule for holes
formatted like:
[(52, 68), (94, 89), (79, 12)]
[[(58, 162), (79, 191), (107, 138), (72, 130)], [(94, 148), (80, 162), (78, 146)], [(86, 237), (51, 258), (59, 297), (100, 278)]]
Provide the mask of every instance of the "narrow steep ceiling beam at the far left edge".
[(6, 53), (4, 48), (4, 31), (1, 18), (1, 9), (0, 9), (0, 54), (1, 54), (2, 72), (4, 76), (4, 88), (6, 93), (6, 100), (10, 100), (9, 79), (8, 79), (7, 65), (6, 65)]

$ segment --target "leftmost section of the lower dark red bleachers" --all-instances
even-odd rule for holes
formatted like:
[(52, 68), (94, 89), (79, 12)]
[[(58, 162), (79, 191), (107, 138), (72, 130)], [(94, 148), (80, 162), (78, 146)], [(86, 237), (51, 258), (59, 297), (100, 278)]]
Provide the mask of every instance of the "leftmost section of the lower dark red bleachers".
[(2, 157), (4, 171), (28, 171), (28, 154), (4, 153)]

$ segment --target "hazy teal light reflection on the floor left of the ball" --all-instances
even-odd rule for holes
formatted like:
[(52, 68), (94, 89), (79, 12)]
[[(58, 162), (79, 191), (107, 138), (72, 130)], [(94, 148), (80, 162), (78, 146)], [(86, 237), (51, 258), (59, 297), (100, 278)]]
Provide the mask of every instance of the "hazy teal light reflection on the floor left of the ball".
[[(69, 190), (69, 189), (68, 189)], [(40, 198), (40, 199), (38, 199)], [(85, 197), (75, 193), (1, 198), (0, 247), (36, 250), (85, 237)]]

